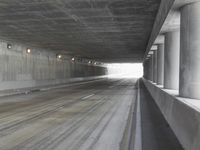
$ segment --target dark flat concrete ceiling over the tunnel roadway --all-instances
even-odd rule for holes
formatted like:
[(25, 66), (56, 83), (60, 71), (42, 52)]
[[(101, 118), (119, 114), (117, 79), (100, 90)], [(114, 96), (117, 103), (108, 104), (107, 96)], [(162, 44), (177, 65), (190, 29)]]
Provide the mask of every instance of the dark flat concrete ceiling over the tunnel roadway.
[(103, 62), (142, 61), (160, 0), (0, 0), (0, 38)]

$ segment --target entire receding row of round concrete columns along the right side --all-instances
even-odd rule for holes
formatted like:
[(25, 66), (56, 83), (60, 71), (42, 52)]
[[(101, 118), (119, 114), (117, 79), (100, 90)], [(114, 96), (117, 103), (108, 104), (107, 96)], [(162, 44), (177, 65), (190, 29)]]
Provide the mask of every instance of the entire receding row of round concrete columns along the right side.
[(200, 99), (200, 2), (181, 8), (180, 29), (144, 62), (144, 77), (186, 98)]

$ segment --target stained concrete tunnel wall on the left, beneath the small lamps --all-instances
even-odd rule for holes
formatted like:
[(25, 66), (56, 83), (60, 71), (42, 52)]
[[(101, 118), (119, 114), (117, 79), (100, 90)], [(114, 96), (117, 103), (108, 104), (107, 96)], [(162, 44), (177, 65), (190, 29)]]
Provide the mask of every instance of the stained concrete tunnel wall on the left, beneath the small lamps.
[(72, 63), (70, 59), (59, 60), (56, 53), (0, 42), (0, 90), (46, 86), (106, 74), (106, 68), (88, 64)]

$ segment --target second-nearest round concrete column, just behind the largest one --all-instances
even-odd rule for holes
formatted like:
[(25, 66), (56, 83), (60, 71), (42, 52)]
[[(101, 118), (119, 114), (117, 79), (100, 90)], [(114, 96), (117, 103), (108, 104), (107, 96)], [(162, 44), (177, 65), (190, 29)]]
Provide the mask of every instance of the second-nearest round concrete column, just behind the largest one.
[(164, 88), (178, 90), (180, 60), (180, 32), (165, 34)]

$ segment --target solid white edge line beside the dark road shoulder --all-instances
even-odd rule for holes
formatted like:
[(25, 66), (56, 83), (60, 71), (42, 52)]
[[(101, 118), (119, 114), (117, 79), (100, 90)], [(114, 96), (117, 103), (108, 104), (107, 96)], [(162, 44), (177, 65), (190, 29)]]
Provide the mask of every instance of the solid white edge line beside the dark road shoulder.
[(134, 150), (142, 150), (142, 127), (141, 127), (141, 110), (140, 110), (140, 81), (138, 81), (137, 94), (137, 115), (136, 115), (136, 131), (135, 131)]

